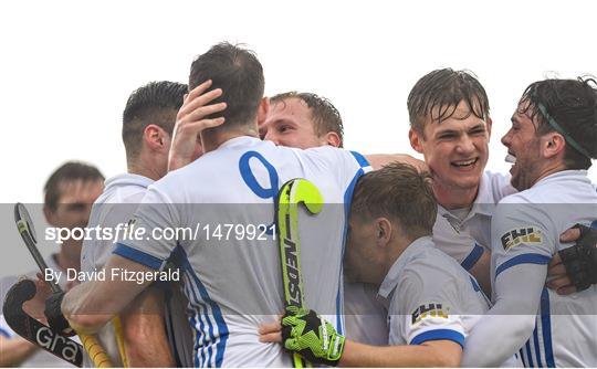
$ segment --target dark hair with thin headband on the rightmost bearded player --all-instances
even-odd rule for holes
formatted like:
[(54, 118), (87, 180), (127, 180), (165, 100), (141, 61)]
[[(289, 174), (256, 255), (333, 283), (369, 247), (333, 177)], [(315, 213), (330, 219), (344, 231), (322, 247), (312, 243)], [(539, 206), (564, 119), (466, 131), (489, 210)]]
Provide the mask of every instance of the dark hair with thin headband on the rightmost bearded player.
[[(564, 160), (568, 169), (588, 169), (590, 158), (597, 158), (597, 81), (594, 77), (532, 83), (521, 97), (519, 113), (536, 119), (537, 136), (553, 131), (564, 136)], [(556, 129), (554, 122), (559, 128)], [(575, 148), (576, 145), (580, 148)]]

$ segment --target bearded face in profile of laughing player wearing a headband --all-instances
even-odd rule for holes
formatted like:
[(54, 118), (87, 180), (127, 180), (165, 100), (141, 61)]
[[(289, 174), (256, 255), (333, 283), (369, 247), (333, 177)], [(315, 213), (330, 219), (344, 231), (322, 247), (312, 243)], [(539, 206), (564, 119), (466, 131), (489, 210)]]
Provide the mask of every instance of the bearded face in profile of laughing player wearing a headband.
[(527, 105), (527, 102), (519, 105), (512, 115), (510, 130), (502, 137), (502, 144), (507, 147), (506, 161), (512, 162), (511, 183), (519, 191), (531, 188), (541, 170), (541, 137), (536, 135), (536, 124)]

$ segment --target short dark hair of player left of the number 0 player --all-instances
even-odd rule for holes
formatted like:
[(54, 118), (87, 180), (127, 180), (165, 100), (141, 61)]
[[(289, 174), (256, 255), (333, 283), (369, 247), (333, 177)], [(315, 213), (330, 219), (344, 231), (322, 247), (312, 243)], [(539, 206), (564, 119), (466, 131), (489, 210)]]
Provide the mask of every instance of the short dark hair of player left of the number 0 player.
[(123, 112), (123, 143), (126, 158), (136, 158), (142, 148), (143, 131), (154, 124), (172, 135), (176, 115), (187, 93), (187, 85), (160, 81), (150, 82), (135, 89)]

